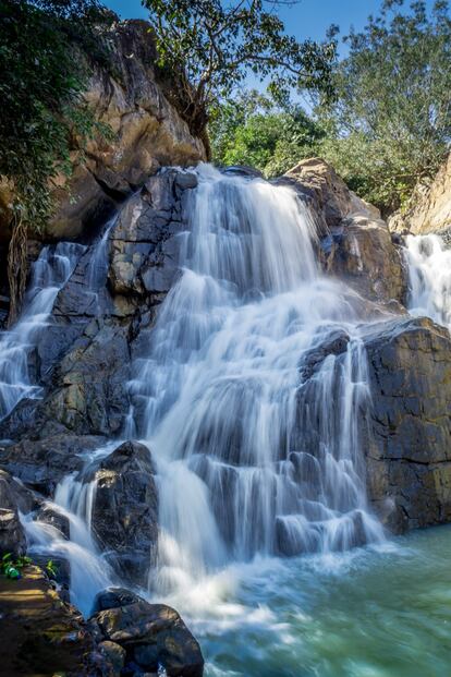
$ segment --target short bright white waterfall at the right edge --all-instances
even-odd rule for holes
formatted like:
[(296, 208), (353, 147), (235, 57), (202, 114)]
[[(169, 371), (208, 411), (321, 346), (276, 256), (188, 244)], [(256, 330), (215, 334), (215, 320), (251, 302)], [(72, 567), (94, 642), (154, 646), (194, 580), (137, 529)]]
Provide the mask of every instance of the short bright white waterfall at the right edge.
[(407, 235), (409, 310), (451, 330), (451, 249), (439, 235)]

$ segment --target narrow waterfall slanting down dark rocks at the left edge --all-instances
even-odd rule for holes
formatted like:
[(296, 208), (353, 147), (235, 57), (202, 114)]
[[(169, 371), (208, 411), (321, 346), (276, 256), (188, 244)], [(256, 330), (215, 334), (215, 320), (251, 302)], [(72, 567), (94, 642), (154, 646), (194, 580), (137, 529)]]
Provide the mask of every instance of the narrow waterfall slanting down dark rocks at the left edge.
[(33, 264), (24, 310), (16, 325), (0, 335), (0, 420), (24, 398), (36, 398), (28, 359), (48, 326), (57, 294), (65, 285), (85, 247), (73, 242), (45, 246)]

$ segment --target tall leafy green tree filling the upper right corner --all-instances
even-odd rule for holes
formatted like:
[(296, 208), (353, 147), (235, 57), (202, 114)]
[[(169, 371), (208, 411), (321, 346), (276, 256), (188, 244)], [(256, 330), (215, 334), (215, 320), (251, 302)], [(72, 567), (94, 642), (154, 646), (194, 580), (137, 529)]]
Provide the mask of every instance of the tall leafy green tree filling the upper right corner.
[[(409, 11), (406, 11), (409, 10)], [(318, 108), (321, 153), (357, 193), (388, 214), (434, 177), (451, 135), (448, 3), (386, 0), (334, 75), (337, 102)]]

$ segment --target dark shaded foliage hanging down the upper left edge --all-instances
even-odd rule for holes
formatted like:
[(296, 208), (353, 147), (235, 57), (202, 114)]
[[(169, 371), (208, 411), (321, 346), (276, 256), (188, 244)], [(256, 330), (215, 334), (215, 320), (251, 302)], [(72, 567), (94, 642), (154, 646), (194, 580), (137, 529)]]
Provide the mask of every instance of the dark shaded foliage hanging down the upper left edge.
[(88, 65), (76, 51), (76, 44), (94, 44), (103, 14), (97, 0), (0, 0), (0, 174), (14, 182), (16, 195), (13, 310), (25, 285), (27, 229), (39, 231), (51, 214), (49, 180), (70, 173), (75, 138), (105, 132), (83, 99)]

